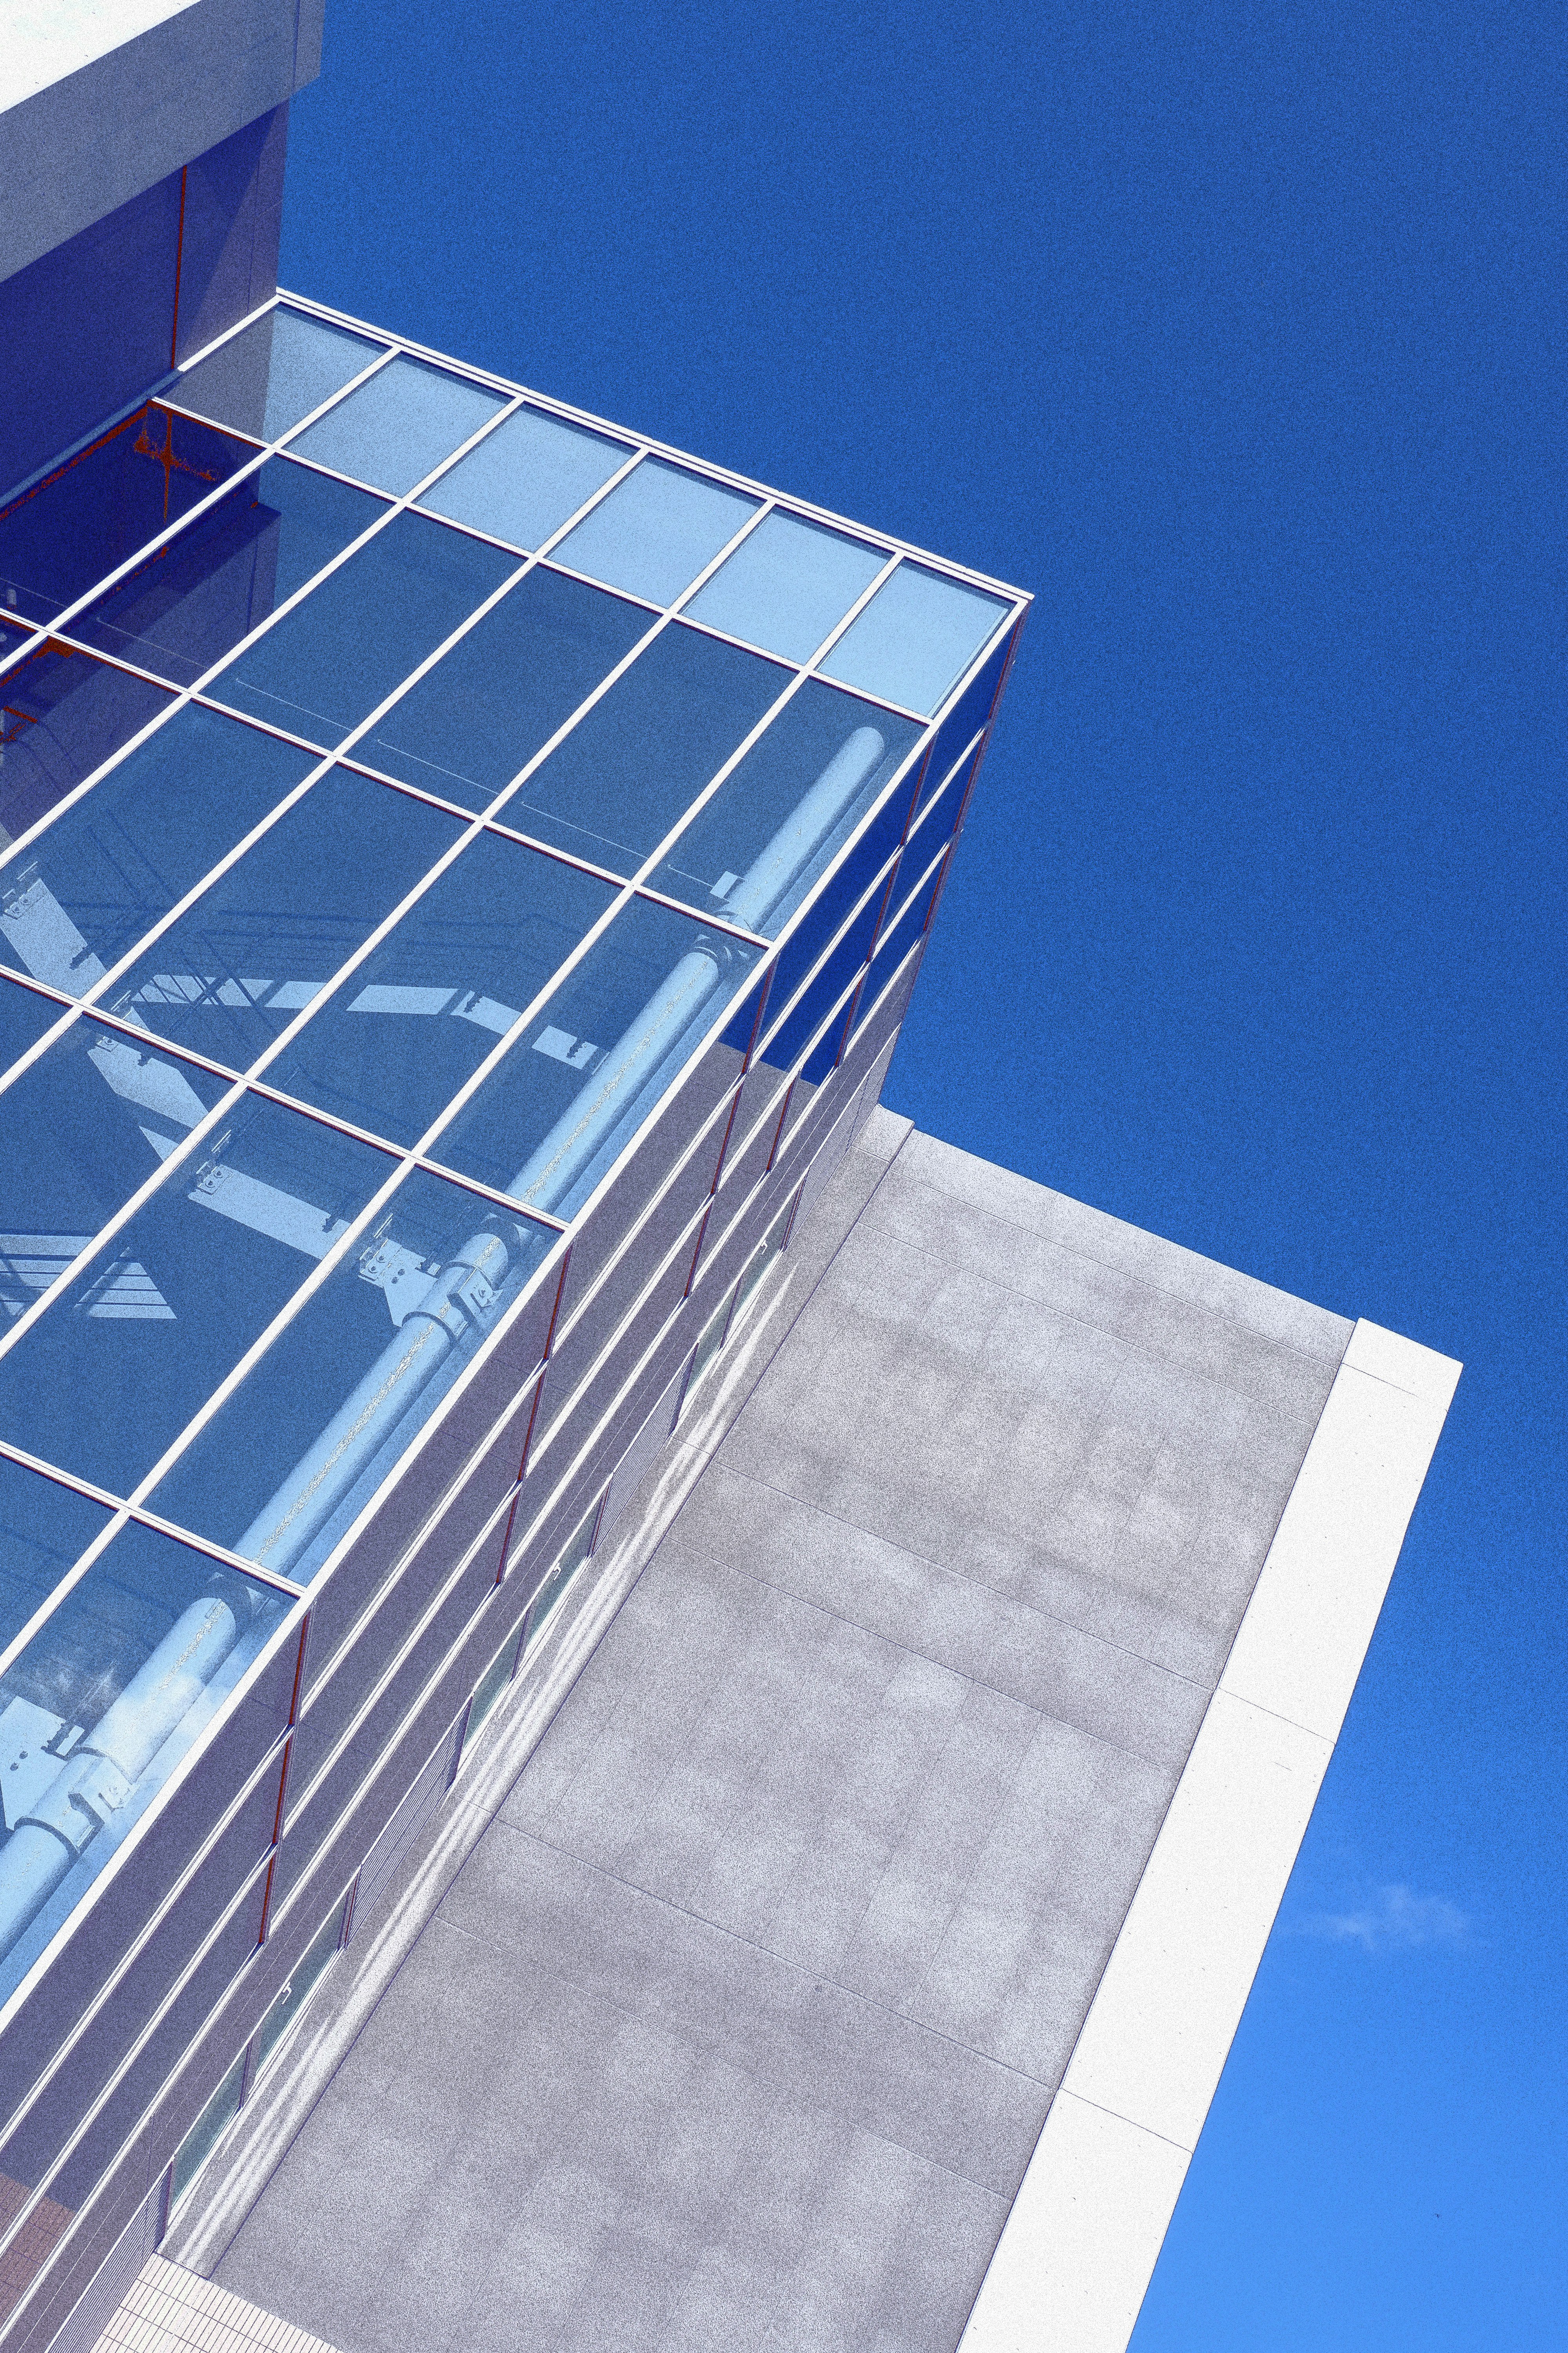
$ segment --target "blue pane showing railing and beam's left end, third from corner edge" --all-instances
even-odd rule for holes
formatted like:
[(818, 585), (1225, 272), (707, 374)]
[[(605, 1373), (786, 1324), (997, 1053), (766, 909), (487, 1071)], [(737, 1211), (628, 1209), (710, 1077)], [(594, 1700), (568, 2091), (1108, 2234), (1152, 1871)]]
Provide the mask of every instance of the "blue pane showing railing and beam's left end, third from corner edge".
[(461, 831), (423, 800), (329, 769), (127, 972), (110, 1009), (249, 1068)]

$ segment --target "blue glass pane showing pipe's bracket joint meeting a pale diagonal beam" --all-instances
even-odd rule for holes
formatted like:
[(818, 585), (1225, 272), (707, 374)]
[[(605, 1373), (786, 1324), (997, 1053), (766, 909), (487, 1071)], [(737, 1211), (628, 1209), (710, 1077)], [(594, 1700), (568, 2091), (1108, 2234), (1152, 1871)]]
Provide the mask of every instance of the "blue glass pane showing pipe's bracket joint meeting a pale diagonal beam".
[(414, 1169), (169, 1471), (158, 1511), (313, 1577), (555, 1240)]

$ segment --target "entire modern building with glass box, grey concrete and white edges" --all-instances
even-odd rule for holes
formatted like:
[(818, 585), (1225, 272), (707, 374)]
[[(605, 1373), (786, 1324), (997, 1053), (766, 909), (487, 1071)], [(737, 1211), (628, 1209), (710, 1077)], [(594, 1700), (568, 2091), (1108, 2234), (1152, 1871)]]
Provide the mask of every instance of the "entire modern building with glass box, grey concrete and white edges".
[(277, 301), (317, 54), (5, 68), (0, 2346), (1121, 2344), (1455, 1367), (879, 1111), (1027, 598)]

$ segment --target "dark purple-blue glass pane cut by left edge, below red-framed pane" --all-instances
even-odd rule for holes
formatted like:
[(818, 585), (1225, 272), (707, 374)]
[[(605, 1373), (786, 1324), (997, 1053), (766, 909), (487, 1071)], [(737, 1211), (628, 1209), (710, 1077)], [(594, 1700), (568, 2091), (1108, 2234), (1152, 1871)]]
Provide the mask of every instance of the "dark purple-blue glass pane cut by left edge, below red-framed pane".
[(0, 682), (0, 849), (167, 706), (162, 687), (78, 654), (59, 638)]

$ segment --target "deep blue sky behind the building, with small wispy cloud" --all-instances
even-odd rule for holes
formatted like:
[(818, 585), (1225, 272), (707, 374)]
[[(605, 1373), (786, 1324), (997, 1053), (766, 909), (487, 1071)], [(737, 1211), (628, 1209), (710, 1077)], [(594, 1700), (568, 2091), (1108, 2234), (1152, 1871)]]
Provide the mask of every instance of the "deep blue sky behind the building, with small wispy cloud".
[(1037, 591), (889, 1101), (1467, 1360), (1135, 2353), (1563, 2344), (1556, 12), (329, 0), (284, 282)]

